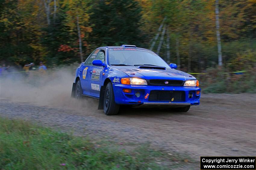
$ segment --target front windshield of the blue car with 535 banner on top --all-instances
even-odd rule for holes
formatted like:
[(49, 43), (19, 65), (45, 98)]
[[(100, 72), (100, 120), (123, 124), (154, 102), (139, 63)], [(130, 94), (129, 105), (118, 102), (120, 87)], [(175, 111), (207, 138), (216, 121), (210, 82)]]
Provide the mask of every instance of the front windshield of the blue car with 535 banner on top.
[(154, 52), (135, 48), (110, 48), (109, 64), (122, 66), (151, 65), (169, 68), (169, 65)]

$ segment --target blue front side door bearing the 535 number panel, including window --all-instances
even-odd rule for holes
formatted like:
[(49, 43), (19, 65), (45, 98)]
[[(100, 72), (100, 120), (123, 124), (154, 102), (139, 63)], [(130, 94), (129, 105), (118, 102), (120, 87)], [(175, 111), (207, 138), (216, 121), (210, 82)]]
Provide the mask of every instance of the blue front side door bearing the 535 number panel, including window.
[[(105, 50), (100, 49), (95, 57), (95, 60), (101, 60), (102, 63), (105, 63)], [(92, 65), (91, 69), (89, 70), (89, 77), (91, 78), (90, 88), (91, 94), (95, 97), (100, 95), (100, 87), (102, 85), (102, 72), (104, 67), (102, 66), (94, 66)]]

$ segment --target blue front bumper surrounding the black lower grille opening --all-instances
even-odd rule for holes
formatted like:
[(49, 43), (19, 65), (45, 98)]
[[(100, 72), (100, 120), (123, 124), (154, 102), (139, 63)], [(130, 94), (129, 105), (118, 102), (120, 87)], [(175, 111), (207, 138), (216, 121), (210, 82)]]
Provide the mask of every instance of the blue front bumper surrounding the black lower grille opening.
[[(113, 84), (115, 102), (124, 105), (137, 105), (137, 106), (188, 106), (199, 105), (200, 94), (196, 91), (201, 91), (198, 87), (185, 87), (185, 86), (151, 86), (151, 85), (123, 85)], [(123, 89), (131, 89), (131, 93), (124, 93)], [(158, 101), (149, 100), (151, 91), (183, 91), (184, 98), (182, 101)], [(136, 95), (136, 94), (140, 95)], [(192, 94), (192, 95), (191, 95)]]

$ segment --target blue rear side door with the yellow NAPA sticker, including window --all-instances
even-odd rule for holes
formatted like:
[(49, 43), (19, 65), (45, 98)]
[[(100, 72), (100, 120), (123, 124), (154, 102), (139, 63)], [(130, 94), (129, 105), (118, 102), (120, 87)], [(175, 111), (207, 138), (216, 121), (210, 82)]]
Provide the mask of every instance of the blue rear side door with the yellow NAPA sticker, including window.
[(90, 84), (91, 73), (89, 73), (89, 70), (91, 70), (92, 61), (95, 60), (98, 52), (99, 50), (95, 50), (94, 52), (92, 52), (92, 54), (89, 55), (89, 57), (84, 62), (83, 66), (80, 68), (79, 76), (80, 76), (81, 86), (82, 86), (84, 95), (91, 94), (91, 84)]

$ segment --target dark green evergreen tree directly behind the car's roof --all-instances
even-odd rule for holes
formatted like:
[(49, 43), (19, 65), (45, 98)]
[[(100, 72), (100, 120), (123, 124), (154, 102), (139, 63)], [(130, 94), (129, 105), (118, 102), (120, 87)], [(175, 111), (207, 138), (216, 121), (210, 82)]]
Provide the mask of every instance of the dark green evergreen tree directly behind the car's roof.
[(95, 1), (90, 10), (92, 33), (90, 43), (95, 46), (120, 46), (134, 44), (140, 46), (141, 7), (133, 0)]

